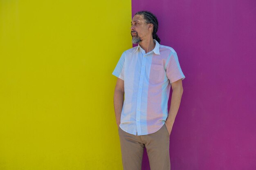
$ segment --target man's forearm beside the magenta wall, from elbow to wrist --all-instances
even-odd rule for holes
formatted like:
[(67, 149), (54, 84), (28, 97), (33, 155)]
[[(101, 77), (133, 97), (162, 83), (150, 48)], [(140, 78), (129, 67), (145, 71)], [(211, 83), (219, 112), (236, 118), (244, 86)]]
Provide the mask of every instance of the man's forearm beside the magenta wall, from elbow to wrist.
[(182, 93), (183, 93), (183, 89), (180, 88), (180, 87), (173, 89), (169, 115), (166, 119), (166, 122), (168, 124), (173, 124), (174, 123), (175, 117), (176, 117), (176, 115), (178, 113), (178, 110), (179, 110), (179, 107), (180, 107)]

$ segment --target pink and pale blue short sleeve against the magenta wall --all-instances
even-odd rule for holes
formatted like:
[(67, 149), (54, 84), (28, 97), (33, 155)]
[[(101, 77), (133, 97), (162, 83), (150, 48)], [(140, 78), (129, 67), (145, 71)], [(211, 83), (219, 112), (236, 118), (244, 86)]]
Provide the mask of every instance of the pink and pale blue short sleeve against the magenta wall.
[(179, 63), (176, 52), (172, 53), (169, 58), (169, 61), (166, 67), (166, 75), (170, 80), (170, 83), (176, 82), (179, 79), (183, 80), (185, 78), (180, 68), (180, 63)]

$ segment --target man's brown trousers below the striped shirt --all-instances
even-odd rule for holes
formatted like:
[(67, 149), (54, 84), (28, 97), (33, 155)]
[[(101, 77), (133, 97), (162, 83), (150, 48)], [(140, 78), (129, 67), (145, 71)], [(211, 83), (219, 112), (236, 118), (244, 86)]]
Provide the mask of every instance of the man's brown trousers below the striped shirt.
[(132, 135), (118, 129), (124, 170), (141, 170), (144, 147), (148, 153), (150, 170), (170, 170), (170, 135), (166, 124), (148, 135)]

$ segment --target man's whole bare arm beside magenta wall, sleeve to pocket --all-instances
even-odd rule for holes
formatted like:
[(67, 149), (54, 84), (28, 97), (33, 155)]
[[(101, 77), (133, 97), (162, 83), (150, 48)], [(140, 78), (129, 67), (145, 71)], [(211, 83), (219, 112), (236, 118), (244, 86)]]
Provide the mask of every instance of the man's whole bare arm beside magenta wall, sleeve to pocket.
[(173, 82), (171, 84), (171, 87), (173, 89), (171, 97), (171, 106), (169, 110), (169, 115), (165, 121), (169, 134), (171, 134), (174, 120), (180, 107), (180, 101), (183, 93), (182, 80), (179, 79), (176, 82)]

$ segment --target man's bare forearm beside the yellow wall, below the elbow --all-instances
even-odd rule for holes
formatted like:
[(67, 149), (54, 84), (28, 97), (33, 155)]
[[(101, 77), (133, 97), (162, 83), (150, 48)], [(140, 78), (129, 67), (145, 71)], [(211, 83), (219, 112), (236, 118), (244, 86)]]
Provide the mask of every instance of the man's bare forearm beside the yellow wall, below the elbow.
[(121, 119), (121, 111), (124, 104), (124, 92), (115, 90), (114, 94), (114, 109), (115, 109), (115, 116), (116, 116), (116, 122), (117, 126), (120, 124)]

